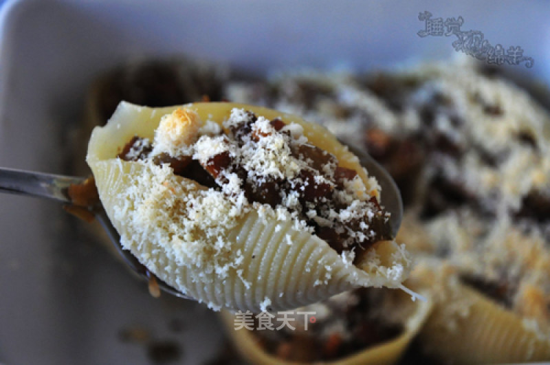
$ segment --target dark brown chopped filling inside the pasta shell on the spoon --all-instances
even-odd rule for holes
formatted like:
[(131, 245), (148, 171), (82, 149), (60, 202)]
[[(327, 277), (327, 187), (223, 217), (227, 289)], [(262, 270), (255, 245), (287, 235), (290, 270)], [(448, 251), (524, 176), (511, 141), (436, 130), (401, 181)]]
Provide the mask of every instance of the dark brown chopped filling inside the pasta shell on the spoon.
[(269, 137), (276, 137), (276, 141), (283, 141), (279, 150), (287, 151), (291, 156), (289, 164), (303, 162), (298, 168), (287, 168), (292, 171), (286, 175), (258, 173), (257, 169), (250, 168), (250, 162), (230, 151), (212, 154), (207, 159), (200, 159), (196, 154), (153, 155), (153, 144), (138, 136), (124, 146), (118, 157), (126, 161), (152, 158), (157, 165), (169, 165), (175, 175), (226, 194), (232, 194), (234, 181), (239, 181), (237, 191), (243, 191), (249, 203), (285, 207), (294, 217), (305, 221), (311, 232), (338, 254), (344, 250), (366, 250), (377, 241), (391, 239), (388, 213), (377, 199), (351, 199), (350, 186), (355, 179), (360, 179), (355, 170), (340, 166), (334, 155), (321, 148), (298, 141), (299, 138), (293, 137), (292, 130), (285, 128), (287, 124), (282, 120), (270, 120), (267, 129), (259, 128), (256, 125), (258, 120), (254, 113), (246, 111), (241, 120), (228, 126), (229, 133), (219, 131), (208, 138), (238, 150), (264, 148), (265, 153), (271, 153), (266, 143)]

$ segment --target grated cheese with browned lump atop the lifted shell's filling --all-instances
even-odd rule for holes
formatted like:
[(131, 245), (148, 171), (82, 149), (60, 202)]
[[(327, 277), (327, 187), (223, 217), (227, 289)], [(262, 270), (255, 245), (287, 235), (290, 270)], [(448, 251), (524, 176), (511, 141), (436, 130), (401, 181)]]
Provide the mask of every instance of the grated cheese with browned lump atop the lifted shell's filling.
[[(381, 215), (373, 191), (367, 191), (354, 171), (346, 178), (336, 176), (336, 157), (309, 144), (299, 124), (276, 128), (261, 115), (234, 108), (223, 122), (223, 129), (231, 131), (226, 135), (213, 122), (201, 126), (195, 113), (186, 113), (177, 110), (162, 118), (155, 131), (153, 162), (163, 154), (190, 156), (239, 209), (248, 201), (260, 215), (272, 208), (282, 220), (287, 217), (281, 212), (288, 211), (300, 230), (333, 230), (321, 238), (331, 239), (329, 244), (338, 241), (343, 249), (381, 239), (380, 225), (375, 230), (371, 224), (387, 225), (389, 215)], [(369, 183), (378, 187), (372, 178)]]

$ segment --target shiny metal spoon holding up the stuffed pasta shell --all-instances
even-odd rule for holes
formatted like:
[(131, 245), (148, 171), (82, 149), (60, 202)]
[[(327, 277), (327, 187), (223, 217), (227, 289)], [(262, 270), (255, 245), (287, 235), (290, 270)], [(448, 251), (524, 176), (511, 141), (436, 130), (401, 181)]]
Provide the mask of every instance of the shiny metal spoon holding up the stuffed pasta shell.
[[(393, 236), (395, 236), (399, 230), (399, 225), (401, 225), (401, 218), (403, 217), (403, 204), (401, 203), (399, 189), (388, 172), (377, 164), (371, 156), (364, 153), (360, 148), (354, 146), (349, 147), (350, 151), (359, 157), (362, 166), (369, 171), (369, 174), (375, 176), (378, 180), (378, 184), (380, 184), (382, 188), (382, 199), (380, 203), (384, 206), (386, 211), (391, 213), (391, 231)], [(61, 203), (68, 204), (69, 206), (74, 204), (74, 201), (72, 201), (68, 194), (69, 186), (73, 184), (83, 184), (84, 181), (85, 178), (83, 177), (52, 175), (36, 173), (34, 171), (0, 168), (0, 192), (54, 199)], [(129, 250), (122, 249), (120, 245), (120, 235), (111, 224), (109, 217), (107, 217), (107, 213), (105, 213), (100, 203), (95, 206), (88, 206), (86, 209), (91, 212), (91, 214), (94, 214), (94, 217), (100, 222), (105, 232), (107, 232), (117, 252), (124, 258), (126, 264), (128, 264), (136, 274), (148, 280), (149, 283), (152, 281), (154, 283), (156, 280), (155, 285), (158, 285), (159, 289), (168, 294), (193, 300), (190, 296), (177, 291), (162, 280), (155, 278), (144, 265), (137, 261), (137, 258), (135, 258)]]

